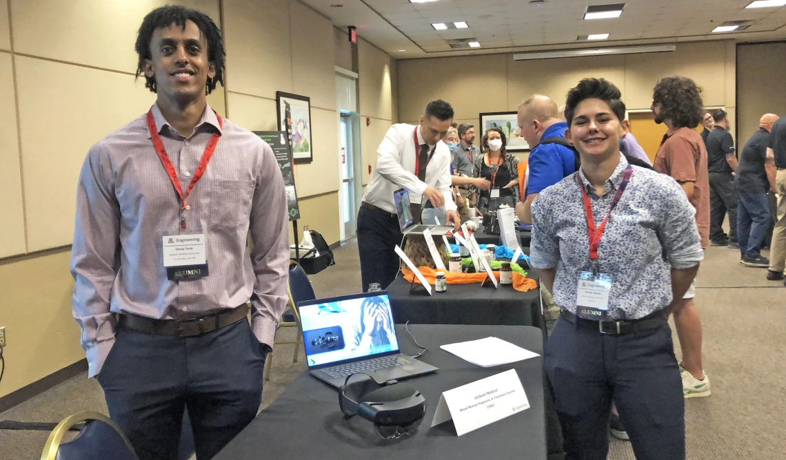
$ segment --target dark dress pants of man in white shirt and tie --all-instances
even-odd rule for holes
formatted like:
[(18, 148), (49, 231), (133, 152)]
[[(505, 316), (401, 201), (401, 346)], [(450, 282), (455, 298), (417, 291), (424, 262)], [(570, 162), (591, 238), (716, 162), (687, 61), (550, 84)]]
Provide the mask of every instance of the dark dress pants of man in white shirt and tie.
[[(380, 283), (381, 289), (393, 283), (399, 273), (399, 256), (395, 246), (401, 244), (399, 218), (361, 207), (358, 211), (358, 254), (363, 292), (369, 283)], [(402, 248), (403, 249), (403, 248)]]

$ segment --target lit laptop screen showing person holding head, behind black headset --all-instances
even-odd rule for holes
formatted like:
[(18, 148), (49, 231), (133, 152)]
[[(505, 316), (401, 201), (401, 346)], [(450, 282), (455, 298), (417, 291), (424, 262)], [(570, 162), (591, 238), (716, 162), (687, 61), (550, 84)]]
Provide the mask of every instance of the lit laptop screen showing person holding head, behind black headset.
[(308, 366), (398, 352), (387, 293), (298, 305)]

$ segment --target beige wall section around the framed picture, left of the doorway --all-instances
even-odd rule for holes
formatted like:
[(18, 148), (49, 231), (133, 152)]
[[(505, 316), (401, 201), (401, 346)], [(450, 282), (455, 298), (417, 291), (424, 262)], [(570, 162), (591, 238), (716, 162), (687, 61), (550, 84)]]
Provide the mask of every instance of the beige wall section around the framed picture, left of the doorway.
[(314, 161), (295, 167), (297, 192), (336, 192), (339, 115), (331, 22), (294, 0), (288, 8), (281, 8), (281, 0), (226, 0), (224, 19), (229, 118), (249, 130), (277, 130), (276, 91), (310, 97)]

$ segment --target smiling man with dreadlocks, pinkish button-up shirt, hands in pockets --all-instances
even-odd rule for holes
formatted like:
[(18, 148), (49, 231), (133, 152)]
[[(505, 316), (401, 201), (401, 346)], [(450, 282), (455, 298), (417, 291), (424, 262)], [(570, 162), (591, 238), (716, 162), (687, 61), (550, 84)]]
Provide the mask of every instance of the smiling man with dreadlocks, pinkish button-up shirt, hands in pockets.
[(87, 153), (72, 308), (89, 377), (138, 457), (177, 458), (187, 408), (202, 460), (259, 408), (286, 304), (284, 181), (270, 146), (207, 103), (225, 58), (207, 15), (153, 10), (136, 51), (156, 103)]

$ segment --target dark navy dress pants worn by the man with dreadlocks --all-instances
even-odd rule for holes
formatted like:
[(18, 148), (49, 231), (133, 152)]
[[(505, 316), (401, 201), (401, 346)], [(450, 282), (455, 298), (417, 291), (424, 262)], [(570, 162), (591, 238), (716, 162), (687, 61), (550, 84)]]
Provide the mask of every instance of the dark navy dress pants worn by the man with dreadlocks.
[(140, 460), (177, 460), (185, 407), (197, 460), (259, 411), (265, 362), (248, 321), (188, 338), (118, 328), (115, 339), (98, 382)]

